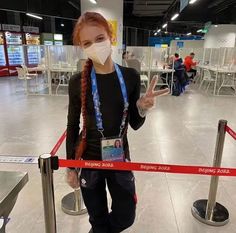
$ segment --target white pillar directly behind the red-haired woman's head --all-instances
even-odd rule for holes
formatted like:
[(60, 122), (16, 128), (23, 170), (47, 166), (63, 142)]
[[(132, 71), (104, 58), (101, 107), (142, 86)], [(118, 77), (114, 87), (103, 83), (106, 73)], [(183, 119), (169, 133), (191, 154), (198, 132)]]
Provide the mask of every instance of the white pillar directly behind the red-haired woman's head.
[(113, 46), (112, 58), (122, 64), (123, 44), (123, 0), (98, 0), (93, 4), (88, 0), (81, 0), (81, 13), (95, 11), (102, 14), (107, 20), (117, 20), (117, 46)]

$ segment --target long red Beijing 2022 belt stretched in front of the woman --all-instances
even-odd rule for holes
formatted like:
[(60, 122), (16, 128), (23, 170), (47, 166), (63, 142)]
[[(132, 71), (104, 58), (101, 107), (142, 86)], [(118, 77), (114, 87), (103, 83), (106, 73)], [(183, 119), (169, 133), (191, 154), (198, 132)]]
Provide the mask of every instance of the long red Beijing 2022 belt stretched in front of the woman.
[(213, 176), (236, 176), (235, 168), (217, 168), (202, 166), (182, 166), (153, 163), (109, 162), (94, 160), (65, 160), (59, 159), (59, 167), (79, 167), (102, 170), (147, 171), (179, 174), (199, 174)]

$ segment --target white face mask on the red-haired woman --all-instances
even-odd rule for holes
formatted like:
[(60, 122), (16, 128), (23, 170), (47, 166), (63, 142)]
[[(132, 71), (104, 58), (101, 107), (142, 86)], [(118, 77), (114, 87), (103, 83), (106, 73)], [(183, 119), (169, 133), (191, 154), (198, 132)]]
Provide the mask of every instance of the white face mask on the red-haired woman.
[(85, 48), (84, 52), (93, 62), (104, 65), (111, 54), (111, 41), (107, 39), (103, 42), (93, 43)]

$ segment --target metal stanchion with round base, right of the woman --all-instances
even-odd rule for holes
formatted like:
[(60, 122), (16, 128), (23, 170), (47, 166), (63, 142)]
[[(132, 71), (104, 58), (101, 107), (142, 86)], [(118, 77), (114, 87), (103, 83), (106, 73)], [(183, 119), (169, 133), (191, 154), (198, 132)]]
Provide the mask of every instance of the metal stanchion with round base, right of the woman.
[[(213, 161), (214, 167), (221, 166), (226, 125), (226, 120), (219, 121), (215, 155)], [(211, 226), (223, 226), (229, 221), (228, 210), (223, 205), (216, 202), (218, 182), (219, 176), (212, 176), (208, 200), (195, 201), (192, 207), (193, 216), (200, 222)]]

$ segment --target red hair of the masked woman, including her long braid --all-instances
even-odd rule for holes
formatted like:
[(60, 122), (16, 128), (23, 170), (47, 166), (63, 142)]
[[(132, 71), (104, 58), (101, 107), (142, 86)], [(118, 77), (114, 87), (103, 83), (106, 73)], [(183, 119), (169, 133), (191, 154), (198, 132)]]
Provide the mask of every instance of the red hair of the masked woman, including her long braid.
[[(110, 23), (99, 13), (96, 12), (86, 12), (80, 16), (78, 19), (74, 32), (73, 32), (73, 43), (74, 45), (80, 45), (80, 32), (81, 29), (86, 25), (96, 25), (101, 26), (105, 29), (110, 39), (112, 39), (112, 27)], [(93, 63), (92, 60), (88, 59), (81, 73), (81, 112), (83, 117), (83, 128), (82, 128), (82, 139), (76, 148), (75, 158), (80, 159), (87, 145), (86, 140), (86, 95), (87, 95), (87, 85), (88, 79), (90, 78), (90, 73)]]

